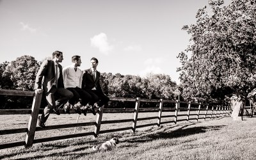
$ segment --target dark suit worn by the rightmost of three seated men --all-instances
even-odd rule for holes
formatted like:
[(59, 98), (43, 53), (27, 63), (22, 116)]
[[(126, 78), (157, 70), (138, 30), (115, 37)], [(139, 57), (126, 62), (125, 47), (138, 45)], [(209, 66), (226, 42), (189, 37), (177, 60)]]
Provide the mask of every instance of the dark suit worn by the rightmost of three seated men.
[[(93, 78), (92, 69), (89, 68), (88, 70), (84, 70), (83, 74), (83, 81), (82, 81), (82, 89), (86, 90), (90, 95), (92, 95), (92, 102), (93, 105), (95, 102), (98, 102), (98, 106), (101, 107), (104, 104), (107, 104), (109, 101), (109, 97), (107, 97), (103, 92), (100, 86), (100, 72), (96, 70), (96, 79)], [(95, 88), (95, 89), (94, 89)]]

